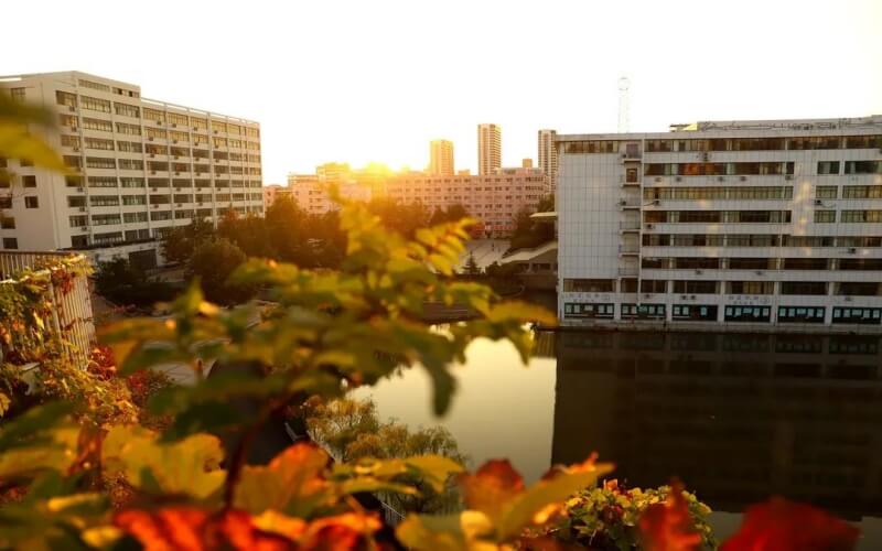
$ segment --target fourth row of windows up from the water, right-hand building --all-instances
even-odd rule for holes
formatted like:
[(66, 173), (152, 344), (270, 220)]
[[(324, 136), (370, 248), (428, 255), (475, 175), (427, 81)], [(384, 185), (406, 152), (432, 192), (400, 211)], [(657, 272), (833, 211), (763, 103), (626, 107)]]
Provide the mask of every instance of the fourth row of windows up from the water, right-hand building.
[(644, 234), (646, 247), (882, 247), (882, 236)]

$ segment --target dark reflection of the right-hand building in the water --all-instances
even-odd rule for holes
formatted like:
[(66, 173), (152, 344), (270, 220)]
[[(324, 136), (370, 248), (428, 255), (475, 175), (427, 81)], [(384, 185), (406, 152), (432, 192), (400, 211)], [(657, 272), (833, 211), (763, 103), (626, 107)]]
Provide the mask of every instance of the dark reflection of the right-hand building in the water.
[(557, 335), (552, 462), (676, 475), (722, 511), (778, 494), (882, 516), (878, 336)]

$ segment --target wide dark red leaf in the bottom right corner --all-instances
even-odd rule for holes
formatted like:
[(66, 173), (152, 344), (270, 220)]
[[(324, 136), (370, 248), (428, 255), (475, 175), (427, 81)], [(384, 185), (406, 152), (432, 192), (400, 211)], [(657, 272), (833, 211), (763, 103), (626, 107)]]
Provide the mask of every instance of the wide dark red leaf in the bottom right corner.
[(850, 551), (859, 530), (810, 505), (773, 498), (747, 508), (721, 551)]

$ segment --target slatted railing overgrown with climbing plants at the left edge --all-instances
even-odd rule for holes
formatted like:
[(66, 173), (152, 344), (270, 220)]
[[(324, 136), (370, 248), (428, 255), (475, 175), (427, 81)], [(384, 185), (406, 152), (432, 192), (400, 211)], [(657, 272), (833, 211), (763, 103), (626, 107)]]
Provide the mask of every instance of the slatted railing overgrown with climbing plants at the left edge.
[[(13, 284), (17, 280), (11, 278), (22, 270), (39, 269), (37, 273), (49, 273), (58, 261), (71, 259), (75, 263), (88, 266), (88, 259), (83, 255), (64, 252), (29, 252), (2, 251), (0, 252), (0, 284)], [(88, 357), (92, 344), (95, 342), (95, 324), (92, 314), (92, 298), (89, 295), (88, 279), (83, 273), (77, 273), (71, 281), (71, 288), (57, 289), (50, 279), (49, 299), (52, 303), (52, 323), (49, 331), (71, 343), (71, 353), (74, 357), (85, 360)]]

